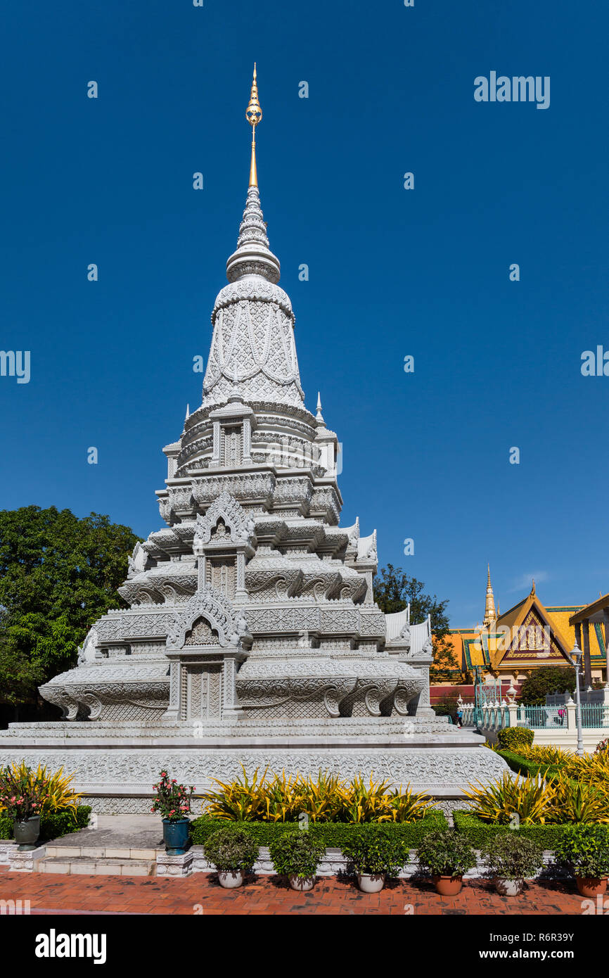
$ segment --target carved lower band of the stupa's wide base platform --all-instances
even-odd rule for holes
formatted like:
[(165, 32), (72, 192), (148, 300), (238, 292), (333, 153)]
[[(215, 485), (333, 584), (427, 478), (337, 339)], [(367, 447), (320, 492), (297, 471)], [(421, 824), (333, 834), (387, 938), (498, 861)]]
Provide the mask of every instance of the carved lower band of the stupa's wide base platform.
[[(55, 771), (76, 771), (74, 788), (96, 799), (94, 808), (100, 811), (97, 799), (104, 799), (113, 811), (129, 811), (130, 799), (152, 798), (152, 784), (160, 768), (179, 772), (180, 780), (194, 784), (196, 792), (207, 790), (213, 778), (223, 781), (239, 778), (241, 764), (248, 772), (258, 768), (287, 775), (299, 772), (303, 776), (316, 777), (320, 771), (337, 774), (340, 778), (355, 778), (363, 772), (372, 772), (374, 778), (386, 778), (395, 786), (413, 790), (430, 790), (436, 797), (462, 797), (463, 789), (475, 779), (487, 782), (500, 778), (506, 770), (502, 759), (494, 751), (486, 750), (484, 738), (465, 734), (460, 738), (444, 740), (441, 734), (427, 735), (426, 743), (408, 731), (404, 743), (360, 742), (352, 746), (320, 744), (312, 741), (304, 745), (290, 745), (283, 738), (276, 744), (264, 742), (239, 750), (230, 749), (224, 743), (212, 746), (204, 742), (204, 736), (192, 738), (191, 748), (156, 742), (147, 747), (137, 741), (129, 746), (99, 746), (83, 749), (82, 745), (69, 749), (66, 746), (20, 746), (19, 760), (36, 767), (44, 764)], [(408, 737), (411, 736), (409, 742)], [(425, 739), (425, 738), (423, 738)], [(444, 742), (443, 742), (444, 740)], [(0, 744), (0, 761), (17, 756), (13, 749), (7, 753)], [(108, 809), (107, 809), (108, 810)], [(132, 810), (132, 809), (131, 809)]]

